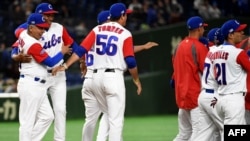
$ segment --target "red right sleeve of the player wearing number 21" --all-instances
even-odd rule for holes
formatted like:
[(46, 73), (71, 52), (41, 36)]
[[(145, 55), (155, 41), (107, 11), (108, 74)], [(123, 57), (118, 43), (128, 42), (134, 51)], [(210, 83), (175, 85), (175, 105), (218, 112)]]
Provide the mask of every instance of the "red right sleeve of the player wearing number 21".
[(250, 72), (250, 61), (246, 52), (241, 51), (240, 54), (237, 56), (236, 61), (243, 67), (245, 71)]

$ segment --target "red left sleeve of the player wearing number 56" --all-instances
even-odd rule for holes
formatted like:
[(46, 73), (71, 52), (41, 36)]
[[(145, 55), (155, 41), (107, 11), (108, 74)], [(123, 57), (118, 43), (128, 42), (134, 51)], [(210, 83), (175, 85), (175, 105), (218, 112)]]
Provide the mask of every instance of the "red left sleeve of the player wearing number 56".
[(86, 50), (90, 50), (95, 44), (95, 32), (92, 30), (86, 38), (81, 42), (80, 46), (84, 47)]

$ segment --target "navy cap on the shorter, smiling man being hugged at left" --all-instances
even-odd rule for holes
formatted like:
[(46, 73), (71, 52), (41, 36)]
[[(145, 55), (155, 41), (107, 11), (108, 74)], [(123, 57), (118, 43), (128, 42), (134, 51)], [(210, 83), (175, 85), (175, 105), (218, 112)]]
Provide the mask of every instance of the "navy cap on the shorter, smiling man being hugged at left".
[(32, 13), (27, 19), (28, 25), (35, 25), (42, 28), (49, 28), (49, 24), (45, 21), (42, 14)]

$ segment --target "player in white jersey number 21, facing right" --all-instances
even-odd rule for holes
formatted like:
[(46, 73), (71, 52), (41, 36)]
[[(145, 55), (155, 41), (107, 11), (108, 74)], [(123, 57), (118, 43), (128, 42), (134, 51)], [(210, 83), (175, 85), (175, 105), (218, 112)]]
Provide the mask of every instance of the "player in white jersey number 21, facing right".
[(226, 125), (246, 124), (246, 72), (250, 71), (250, 62), (247, 54), (235, 47), (242, 41), (246, 26), (237, 20), (226, 21), (221, 27), (225, 42), (211, 54), (218, 84), (218, 112)]

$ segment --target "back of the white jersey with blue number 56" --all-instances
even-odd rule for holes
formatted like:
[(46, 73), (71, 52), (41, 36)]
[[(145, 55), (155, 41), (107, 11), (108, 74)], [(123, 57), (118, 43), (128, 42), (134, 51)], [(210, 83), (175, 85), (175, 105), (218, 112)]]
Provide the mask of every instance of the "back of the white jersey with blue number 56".
[[(98, 25), (93, 31), (96, 36), (94, 68), (114, 68), (125, 71), (127, 69), (124, 60), (126, 46), (133, 46), (131, 33), (116, 22)], [(126, 44), (128, 40), (130, 44)]]

